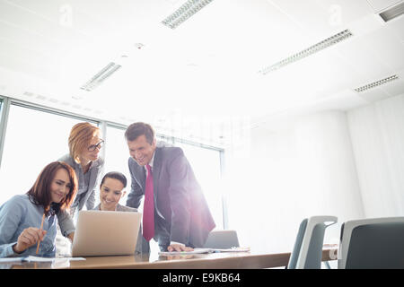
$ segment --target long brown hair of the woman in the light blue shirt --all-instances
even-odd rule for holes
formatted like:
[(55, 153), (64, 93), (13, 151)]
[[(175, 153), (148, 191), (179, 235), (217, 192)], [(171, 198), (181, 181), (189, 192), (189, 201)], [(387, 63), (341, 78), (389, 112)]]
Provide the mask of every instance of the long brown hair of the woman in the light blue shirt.
[(65, 169), (69, 176), (70, 187), (69, 193), (58, 204), (60, 210), (65, 210), (73, 204), (75, 199), (75, 193), (77, 192), (77, 177), (75, 176), (75, 170), (73, 170), (66, 162), (53, 161), (50, 162), (41, 172), (37, 180), (31, 189), (27, 192), (30, 196), (30, 200), (33, 204), (42, 205), (46, 213), (48, 213), (48, 207), (51, 204), (50, 185), (55, 178), (57, 170)]

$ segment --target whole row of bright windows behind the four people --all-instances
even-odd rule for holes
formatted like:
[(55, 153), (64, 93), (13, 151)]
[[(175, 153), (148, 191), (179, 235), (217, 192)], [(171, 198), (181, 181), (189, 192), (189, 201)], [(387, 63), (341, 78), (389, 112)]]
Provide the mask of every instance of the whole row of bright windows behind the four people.
[[(0, 99), (0, 112), (4, 108), (2, 105), (3, 102)], [(31, 107), (19, 102), (12, 102), (7, 110), (4, 143), (0, 143), (0, 147), (3, 147), (0, 162), (0, 204), (4, 204), (14, 195), (26, 193), (34, 184), (40, 171), (49, 162), (57, 161), (68, 153), (68, 135), (72, 126), (79, 122), (89, 121), (85, 118), (69, 117), (52, 110)], [(1, 124), (0, 127), (3, 127)], [(92, 124), (97, 125), (97, 122), (92, 122)], [(124, 136), (126, 127), (112, 126), (110, 123), (105, 123), (105, 125), (103, 129), (105, 135), (101, 135), (105, 140), (104, 150), (101, 151), (105, 160), (103, 173), (116, 170), (125, 174), (127, 193), (120, 201), (120, 204), (125, 205), (131, 185), (127, 166), (129, 152)], [(216, 228), (224, 228), (220, 190), (220, 152), (215, 149), (176, 142), (171, 137), (160, 135), (157, 135), (157, 141), (175, 143), (183, 149), (204, 191), (207, 204), (215, 219)], [(96, 204), (99, 202), (99, 190), (97, 189)], [(139, 206), (139, 211), (143, 211), (143, 203)], [(60, 238), (62, 237), (59, 234), (58, 252), (63, 254), (66, 252), (64, 248), (68, 249), (68, 242)], [(154, 253), (158, 250), (154, 240), (152, 240), (151, 248), (152, 252), (155, 251)]]

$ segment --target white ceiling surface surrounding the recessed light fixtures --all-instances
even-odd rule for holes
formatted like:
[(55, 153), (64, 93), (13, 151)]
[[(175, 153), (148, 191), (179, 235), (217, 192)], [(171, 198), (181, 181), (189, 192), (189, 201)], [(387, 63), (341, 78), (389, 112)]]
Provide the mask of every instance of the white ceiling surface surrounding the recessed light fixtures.
[[(404, 16), (377, 15), (400, 1), (214, 0), (177, 29), (163, 26), (184, 2), (0, 0), (0, 94), (220, 144), (279, 115), (404, 93)], [(354, 36), (258, 73), (346, 29)], [(112, 61), (122, 68), (80, 90)], [(400, 79), (353, 91), (392, 74)]]

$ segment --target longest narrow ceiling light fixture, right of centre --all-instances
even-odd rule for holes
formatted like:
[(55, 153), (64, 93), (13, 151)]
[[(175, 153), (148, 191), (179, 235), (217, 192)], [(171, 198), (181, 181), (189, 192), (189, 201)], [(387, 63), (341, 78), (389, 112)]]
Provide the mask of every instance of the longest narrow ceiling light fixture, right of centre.
[(268, 74), (271, 71), (275, 71), (285, 65), (292, 64), (298, 60), (303, 59), (304, 57), (308, 57), (314, 53), (317, 53), (324, 48), (329, 48), (330, 46), (335, 45), (335, 44), (339, 43), (340, 41), (342, 41), (343, 39), (347, 39), (351, 36), (352, 36), (352, 32), (350, 30), (343, 30), (343, 31), (339, 32), (338, 34), (335, 34), (335, 35), (329, 37), (328, 39), (322, 40), (321, 42), (313, 45), (312, 47), (303, 49), (303, 51), (300, 51), (299, 53), (296, 53), (291, 57), (286, 57), (285, 59), (283, 59), (280, 62), (277, 62), (274, 65), (269, 65), (268, 67), (260, 70), (259, 73)]

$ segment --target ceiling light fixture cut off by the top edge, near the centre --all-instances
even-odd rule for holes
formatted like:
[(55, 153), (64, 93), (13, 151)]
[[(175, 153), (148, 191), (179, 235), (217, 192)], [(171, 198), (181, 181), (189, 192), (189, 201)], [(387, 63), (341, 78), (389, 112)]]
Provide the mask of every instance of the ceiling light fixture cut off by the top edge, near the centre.
[(180, 23), (189, 19), (190, 16), (197, 13), (200, 9), (211, 3), (213, 0), (188, 0), (182, 4), (174, 13), (165, 18), (162, 23), (171, 29), (177, 28)]

